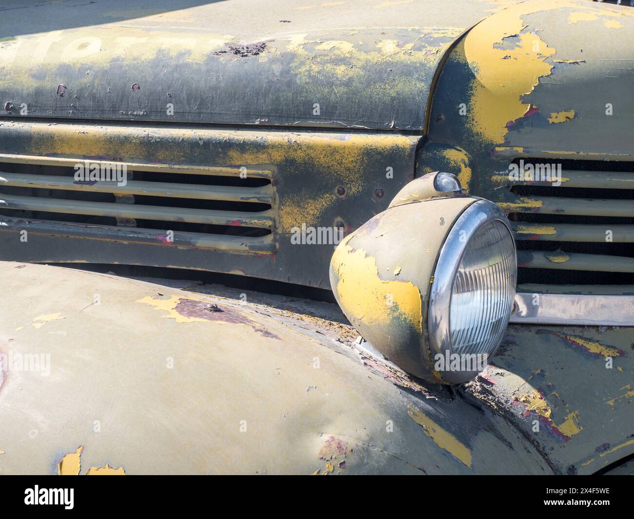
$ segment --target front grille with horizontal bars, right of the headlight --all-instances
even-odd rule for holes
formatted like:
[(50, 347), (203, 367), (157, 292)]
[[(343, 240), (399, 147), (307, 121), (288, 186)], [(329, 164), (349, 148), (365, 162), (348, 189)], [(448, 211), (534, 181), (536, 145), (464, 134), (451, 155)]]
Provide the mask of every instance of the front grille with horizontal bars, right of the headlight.
[(634, 285), (634, 163), (523, 160), (561, 164), (562, 179), (497, 178), (491, 198), (515, 231), (519, 284)]

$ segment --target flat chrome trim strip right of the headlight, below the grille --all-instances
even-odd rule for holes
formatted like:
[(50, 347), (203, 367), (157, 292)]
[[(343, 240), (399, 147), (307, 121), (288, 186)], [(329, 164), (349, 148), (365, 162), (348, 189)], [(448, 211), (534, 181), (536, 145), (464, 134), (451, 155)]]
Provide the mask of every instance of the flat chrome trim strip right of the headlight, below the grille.
[(511, 323), (634, 326), (634, 295), (515, 293)]

